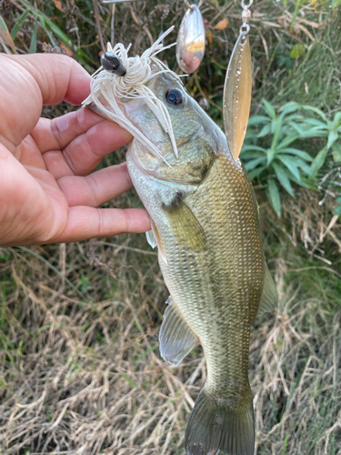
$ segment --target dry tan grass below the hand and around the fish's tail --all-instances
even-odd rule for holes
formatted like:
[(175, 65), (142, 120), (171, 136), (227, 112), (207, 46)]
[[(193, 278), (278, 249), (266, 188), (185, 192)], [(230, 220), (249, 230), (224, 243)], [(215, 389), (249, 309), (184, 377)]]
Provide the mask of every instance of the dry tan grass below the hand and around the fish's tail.
[[(136, 236), (32, 251), (60, 276), (29, 252), (1, 251), (11, 258), (0, 272), (0, 452), (184, 453), (205, 360), (199, 348), (179, 368), (159, 357), (167, 293), (155, 254)], [(256, 453), (339, 455), (339, 302), (302, 298), (286, 274), (278, 260), (280, 306), (252, 331)]]

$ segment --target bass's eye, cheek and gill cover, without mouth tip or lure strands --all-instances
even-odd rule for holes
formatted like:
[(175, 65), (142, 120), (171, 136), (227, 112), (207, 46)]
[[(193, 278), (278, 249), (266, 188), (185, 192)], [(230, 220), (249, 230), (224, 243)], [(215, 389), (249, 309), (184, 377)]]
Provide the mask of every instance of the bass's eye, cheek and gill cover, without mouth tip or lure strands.
[(225, 135), (171, 72), (151, 78), (146, 86), (157, 99), (155, 106), (161, 106), (160, 111), (165, 112), (170, 122), (165, 130), (157, 112), (144, 98), (122, 99), (120, 105), (126, 118), (155, 145), (161, 156), (146, 150), (136, 138), (129, 153), (139, 167), (155, 177), (199, 183), (216, 156), (226, 151)]

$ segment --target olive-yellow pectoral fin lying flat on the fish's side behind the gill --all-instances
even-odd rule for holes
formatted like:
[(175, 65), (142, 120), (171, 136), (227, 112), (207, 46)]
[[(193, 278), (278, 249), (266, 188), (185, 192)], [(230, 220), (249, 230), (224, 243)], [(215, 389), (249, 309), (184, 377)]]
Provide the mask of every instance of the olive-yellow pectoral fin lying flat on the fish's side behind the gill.
[(171, 204), (163, 204), (162, 208), (177, 240), (184, 248), (196, 251), (206, 249), (205, 232), (180, 193), (176, 194)]

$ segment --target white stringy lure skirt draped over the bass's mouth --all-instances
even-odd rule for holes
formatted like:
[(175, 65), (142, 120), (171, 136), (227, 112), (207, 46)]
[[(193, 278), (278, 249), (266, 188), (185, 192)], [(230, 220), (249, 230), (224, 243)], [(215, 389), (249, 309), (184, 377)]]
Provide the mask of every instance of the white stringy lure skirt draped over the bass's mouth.
[[(126, 118), (124, 109), (118, 105), (117, 99), (144, 99), (146, 105), (149, 106), (160, 125), (165, 130), (165, 133), (168, 134), (174, 153), (176, 157), (178, 157), (176, 139), (168, 111), (163, 102), (155, 96), (148, 86), (146, 86), (151, 79), (162, 73), (170, 73), (171, 76), (182, 84), (180, 76), (176, 75), (174, 71), (156, 58), (156, 55), (160, 52), (176, 45), (176, 43), (173, 43), (172, 45), (164, 46), (162, 43), (165, 36), (170, 34), (173, 29), (174, 26), (168, 28), (163, 35), (159, 36), (151, 47), (145, 50), (142, 56), (129, 57), (128, 52), (131, 45), (125, 49), (124, 45), (118, 43), (112, 48), (112, 45), (108, 43), (107, 51), (115, 52), (122, 60), (122, 64), (126, 68), (125, 76), (115, 75), (106, 71), (103, 66), (101, 66), (93, 75), (91, 81), (91, 94), (83, 102), (83, 106), (94, 103), (102, 116), (105, 116), (116, 122), (119, 126), (124, 127), (132, 136), (135, 136), (141, 145), (146, 147), (152, 155), (160, 157), (164, 161), (165, 158), (161, 155), (157, 147), (155, 147), (155, 145)], [(102, 97), (105, 98), (107, 106), (101, 102)]]

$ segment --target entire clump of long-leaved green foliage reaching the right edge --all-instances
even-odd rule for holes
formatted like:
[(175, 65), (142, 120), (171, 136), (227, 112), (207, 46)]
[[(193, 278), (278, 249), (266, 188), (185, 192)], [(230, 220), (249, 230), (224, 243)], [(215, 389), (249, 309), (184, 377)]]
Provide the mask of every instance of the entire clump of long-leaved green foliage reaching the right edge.
[[(328, 118), (314, 106), (289, 102), (278, 109), (263, 100), (264, 115), (252, 116), (248, 123), (246, 144), (241, 157), (249, 177), (257, 177), (266, 187), (266, 195), (278, 217), (281, 216), (281, 197), (278, 184), (295, 197), (292, 183), (301, 187), (315, 187), (313, 182), (325, 165), (328, 152), (333, 154), (333, 166), (341, 162), (341, 111)], [(314, 139), (314, 141), (313, 141)], [(316, 149), (316, 139), (326, 143), (311, 157), (297, 148), (305, 140), (305, 148)], [(323, 177), (323, 176), (322, 176)], [(326, 187), (326, 185), (325, 185)], [(340, 197), (336, 197), (341, 213)]]

